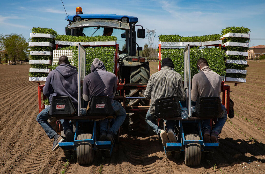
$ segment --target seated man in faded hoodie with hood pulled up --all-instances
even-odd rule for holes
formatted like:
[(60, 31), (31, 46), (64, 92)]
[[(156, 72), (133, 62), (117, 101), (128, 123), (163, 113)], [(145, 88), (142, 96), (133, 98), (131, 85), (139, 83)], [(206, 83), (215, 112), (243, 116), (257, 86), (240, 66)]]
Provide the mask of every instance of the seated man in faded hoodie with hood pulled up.
[(126, 118), (125, 109), (119, 102), (113, 100), (117, 90), (117, 77), (115, 74), (106, 71), (104, 63), (97, 58), (92, 62), (90, 70), (91, 73), (87, 74), (84, 79), (83, 99), (85, 101), (91, 101), (92, 96), (108, 96), (110, 98), (112, 108), (117, 116), (109, 130), (107, 129), (109, 119), (99, 121), (99, 141), (105, 141), (107, 139), (114, 144), (114, 136)]

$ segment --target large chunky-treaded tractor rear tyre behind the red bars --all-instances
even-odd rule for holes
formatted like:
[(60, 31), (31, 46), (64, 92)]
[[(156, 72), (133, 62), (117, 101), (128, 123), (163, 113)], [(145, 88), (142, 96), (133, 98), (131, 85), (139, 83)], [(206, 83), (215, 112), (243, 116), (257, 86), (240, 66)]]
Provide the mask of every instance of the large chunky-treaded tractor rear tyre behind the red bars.
[[(148, 83), (150, 78), (149, 62), (131, 67), (130, 83)], [(130, 97), (143, 97), (145, 90), (130, 90)], [(130, 106), (149, 106), (148, 99), (130, 99)], [(145, 121), (146, 114), (130, 113), (129, 131), (131, 134), (147, 134), (149, 126)]]

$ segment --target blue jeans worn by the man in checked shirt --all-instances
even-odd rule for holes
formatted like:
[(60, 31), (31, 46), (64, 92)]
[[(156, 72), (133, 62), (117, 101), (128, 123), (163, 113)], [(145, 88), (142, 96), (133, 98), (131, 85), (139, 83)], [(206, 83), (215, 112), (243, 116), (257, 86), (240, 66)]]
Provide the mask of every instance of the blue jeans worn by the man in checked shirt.
[[(154, 114), (150, 114), (150, 109), (148, 109), (145, 117), (146, 123), (153, 129), (153, 131), (159, 135), (159, 131), (161, 128), (158, 126), (156, 123), (157, 117), (154, 116)], [(175, 121), (174, 120), (164, 120), (167, 126), (167, 130), (172, 129), (174, 131), (174, 125)]]

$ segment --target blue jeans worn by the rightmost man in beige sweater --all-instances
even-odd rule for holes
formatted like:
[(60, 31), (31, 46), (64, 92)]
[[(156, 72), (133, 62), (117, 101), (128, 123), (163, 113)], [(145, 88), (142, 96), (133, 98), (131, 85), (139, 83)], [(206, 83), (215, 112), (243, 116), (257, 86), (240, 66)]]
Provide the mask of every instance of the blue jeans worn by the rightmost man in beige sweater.
[[(227, 113), (226, 113), (226, 106), (222, 105), (222, 110), (224, 111), (224, 114), (221, 115), (219, 118), (217, 118), (217, 123), (215, 124), (215, 128), (213, 128), (212, 131), (217, 132), (218, 134), (221, 133), (221, 130), (224, 126), (224, 123), (226, 123), (226, 119), (227, 119)], [(202, 129), (210, 129), (211, 130), (211, 126), (210, 126), (210, 120), (202, 120)]]

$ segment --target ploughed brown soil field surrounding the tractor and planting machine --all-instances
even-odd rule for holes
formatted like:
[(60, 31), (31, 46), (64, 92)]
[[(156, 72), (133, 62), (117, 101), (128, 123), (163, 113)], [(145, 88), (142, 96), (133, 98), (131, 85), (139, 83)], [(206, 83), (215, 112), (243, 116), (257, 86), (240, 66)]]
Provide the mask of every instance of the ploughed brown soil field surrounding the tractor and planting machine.
[[(96, 153), (94, 163), (80, 166), (70, 159), (66, 173), (264, 173), (265, 62), (248, 62), (247, 83), (229, 83), (235, 117), (227, 119), (212, 160), (188, 167), (183, 157), (167, 159), (152, 131), (136, 137), (122, 130), (112, 157)], [(157, 62), (150, 62), (151, 73)], [(36, 121), (38, 86), (29, 82), (29, 65), (0, 65), (0, 173), (60, 173), (62, 149)], [(213, 166), (216, 166), (215, 170)]]

